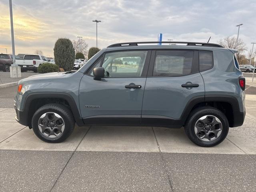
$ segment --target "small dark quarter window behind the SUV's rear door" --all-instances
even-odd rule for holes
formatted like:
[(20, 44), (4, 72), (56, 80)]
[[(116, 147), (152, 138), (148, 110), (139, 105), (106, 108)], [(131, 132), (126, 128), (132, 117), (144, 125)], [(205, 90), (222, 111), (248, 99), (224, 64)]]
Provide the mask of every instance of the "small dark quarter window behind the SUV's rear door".
[(213, 59), (211, 51), (199, 51), (199, 71), (212, 68)]

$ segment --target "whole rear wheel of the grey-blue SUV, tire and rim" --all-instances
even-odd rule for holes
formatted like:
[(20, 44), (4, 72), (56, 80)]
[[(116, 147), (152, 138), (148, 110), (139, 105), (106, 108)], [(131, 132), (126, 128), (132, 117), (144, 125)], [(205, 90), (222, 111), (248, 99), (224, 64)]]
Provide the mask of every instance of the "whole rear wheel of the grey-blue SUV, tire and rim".
[(193, 110), (185, 124), (185, 132), (192, 142), (202, 147), (220, 144), (227, 136), (229, 124), (218, 109), (202, 107)]

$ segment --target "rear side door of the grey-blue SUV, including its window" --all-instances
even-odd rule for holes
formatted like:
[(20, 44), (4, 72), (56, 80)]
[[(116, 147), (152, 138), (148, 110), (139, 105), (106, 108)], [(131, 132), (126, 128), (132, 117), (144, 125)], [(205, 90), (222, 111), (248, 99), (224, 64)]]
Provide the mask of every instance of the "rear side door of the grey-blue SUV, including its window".
[(142, 124), (182, 126), (186, 106), (204, 101), (197, 50), (152, 52), (144, 90)]

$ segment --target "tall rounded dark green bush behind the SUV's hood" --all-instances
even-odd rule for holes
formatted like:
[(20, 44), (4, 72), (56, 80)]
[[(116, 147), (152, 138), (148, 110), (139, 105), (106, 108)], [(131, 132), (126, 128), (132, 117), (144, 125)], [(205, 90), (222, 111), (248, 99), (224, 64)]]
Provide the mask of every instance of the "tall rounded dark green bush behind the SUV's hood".
[(74, 67), (75, 50), (72, 42), (67, 38), (59, 38), (54, 46), (54, 60), (59, 68), (70, 71)]

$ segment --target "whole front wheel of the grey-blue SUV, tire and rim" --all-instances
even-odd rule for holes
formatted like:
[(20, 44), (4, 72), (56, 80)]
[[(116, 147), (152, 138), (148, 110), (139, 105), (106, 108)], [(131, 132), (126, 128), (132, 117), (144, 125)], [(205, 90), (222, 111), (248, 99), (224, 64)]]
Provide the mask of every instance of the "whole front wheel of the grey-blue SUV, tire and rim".
[(36, 110), (32, 128), (36, 136), (45, 142), (64, 141), (74, 130), (72, 112), (61, 104), (46, 104)]

